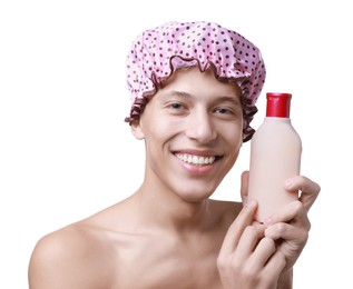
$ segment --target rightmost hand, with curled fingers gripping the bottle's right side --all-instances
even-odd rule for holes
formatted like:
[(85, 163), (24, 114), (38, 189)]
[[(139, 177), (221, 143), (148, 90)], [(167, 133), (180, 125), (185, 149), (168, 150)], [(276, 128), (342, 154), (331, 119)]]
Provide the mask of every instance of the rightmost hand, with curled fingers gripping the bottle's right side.
[(286, 269), (294, 266), (308, 238), (307, 212), (315, 202), (320, 186), (303, 176), (286, 181), (288, 191), (301, 191), (298, 201), (291, 202), (266, 221), (265, 237), (276, 240), (277, 251), (286, 259)]

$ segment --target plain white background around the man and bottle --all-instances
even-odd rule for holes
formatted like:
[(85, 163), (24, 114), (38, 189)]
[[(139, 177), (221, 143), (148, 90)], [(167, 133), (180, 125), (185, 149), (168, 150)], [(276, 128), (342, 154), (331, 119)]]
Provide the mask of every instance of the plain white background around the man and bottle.
[[(122, 4), (124, 3), (124, 4)], [(18, 1), (0, 3), (0, 288), (28, 288), (43, 235), (133, 193), (144, 143), (129, 111), (125, 57), (147, 28), (215, 21), (262, 50), (266, 91), (293, 93), (303, 175), (322, 186), (295, 288), (349, 288), (352, 245), (350, 1)], [(215, 198), (239, 200), (248, 147)]]

